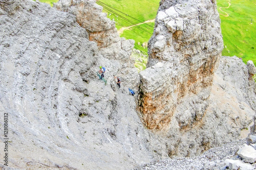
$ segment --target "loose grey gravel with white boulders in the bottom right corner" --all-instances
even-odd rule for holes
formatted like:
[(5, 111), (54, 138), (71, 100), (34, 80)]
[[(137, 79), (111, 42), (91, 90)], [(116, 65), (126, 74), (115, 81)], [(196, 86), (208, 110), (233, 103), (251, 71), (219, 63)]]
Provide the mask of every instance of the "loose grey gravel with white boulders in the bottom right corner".
[[(255, 163), (241, 160), (242, 158), (237, 155), (237, 150), (243, 146), (249, 147), (245, 140), (239, 140), (209, 149), (201, 156), (157, 160), (133, 170), (255, 170)], [(244, 153), (249, 154), (252, 151), (256, 150), (250, 149)]]

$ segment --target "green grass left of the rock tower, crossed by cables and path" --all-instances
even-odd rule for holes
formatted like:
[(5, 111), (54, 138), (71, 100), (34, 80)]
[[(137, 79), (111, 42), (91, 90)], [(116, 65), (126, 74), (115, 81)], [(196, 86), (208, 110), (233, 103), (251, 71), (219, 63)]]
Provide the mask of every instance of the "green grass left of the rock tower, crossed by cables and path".
[[(146, 20), (154, 19), (156, 17), (157, 10), (159, 7), (159, 2), (160, 2), (160, 0), (100, 0), (100, 1), (103, 3), (109, 4), (111, 7), (116, 8), (125, 14), (128, 14), (128, 16), (124, 14), (122, 14), (122, 16), (135, 24), (144, 22)], [(114, 20), (116, 22), (117, 29), (133, 25), (132, 23), (128, 23), (127, 21), (121, 19), (120, 16), (117, 17), (117, 15), (113, 14), (113, 12), (111, 12), (111, 15), (110, 15), (108, 11), (105, 11), (105, 10), (103, 11), (108, 14), (108, 17), (111, 20)], [(118, 12), (116, 13), (120, 14)], [(134, 20), (129, 16), (132, 16), (137, 20)], [(138, 20), (140, 20), (141, 22)], [(148, 25), (150, 25), (151, 27)], [(148, 40), (153, 34), (153, 29), (154, 29), (153, 27), (154, 27), (154, 23), (147, 23), (147, 24), (142, 24), (140, 26), (135, 26), (125, 30), (120, 35), (120, 37), (125, 37), (126, 39), (135, 40), (134, 48), (142, 51), (144, 54), (147, 54), (148, 49), (142, 47), (142, 44), (143, 42), (145, 42), (146, 44), (148, 43)], [(152, 34), (148, 34), (145, 31), (142, 31), (142, 29), (145, 29)]]

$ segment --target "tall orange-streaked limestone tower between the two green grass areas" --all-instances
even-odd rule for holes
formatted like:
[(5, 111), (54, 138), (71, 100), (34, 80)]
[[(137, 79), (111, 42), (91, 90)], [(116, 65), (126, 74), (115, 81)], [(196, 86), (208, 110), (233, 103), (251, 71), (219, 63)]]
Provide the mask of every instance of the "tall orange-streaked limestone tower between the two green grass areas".
[(183, 115), (180, 129), (202, 119), (222, 48), (215, 1), (160, 2), (148, 66), (140, 72), (140, 109), (148, 128), (168, 128), (174, 113)]

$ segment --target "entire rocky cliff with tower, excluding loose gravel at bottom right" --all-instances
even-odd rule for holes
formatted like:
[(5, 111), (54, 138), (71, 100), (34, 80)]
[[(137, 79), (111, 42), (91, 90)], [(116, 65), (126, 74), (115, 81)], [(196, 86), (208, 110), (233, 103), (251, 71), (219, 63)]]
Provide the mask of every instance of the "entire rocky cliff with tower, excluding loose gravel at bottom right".
[[(161, 2), (148, 68), (139, 76), (130, 57), (134, 42), (116, 37), (95, 1), (61, 0), (58, 11), (38, 1), (0, 0), (0, 113), (9, 115), (9, 169), (127, 170), (199, 155), (255, 130), (255, 66), (218, 56), (218, 17), (214, 3), (205, 3)], [(183, 30), (169, 27), (181, 20), (188, 22)], [(99, 65), (107, 69), (106, 85)], [(120, 89), (113, 75), (121, 77)], [(138, 96), (127, 89), (137, 92), (140, 81), (142, 115)], [(2, 131), (0, 148), (3, 138)]]

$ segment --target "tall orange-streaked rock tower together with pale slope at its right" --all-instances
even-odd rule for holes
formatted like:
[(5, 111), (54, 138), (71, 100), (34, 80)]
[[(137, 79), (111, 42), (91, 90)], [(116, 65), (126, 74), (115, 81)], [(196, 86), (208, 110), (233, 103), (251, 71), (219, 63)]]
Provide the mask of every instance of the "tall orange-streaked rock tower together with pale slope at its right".
[(144, 125), (166, 143), (162, 156), (193, 156), (247, 136), (255, 116), (253, 71), (237, 57), (218, 67), (223, 42), (215, 1), (161, 1), (148, 47), (139, 108)]

